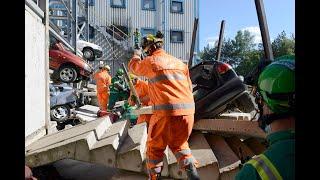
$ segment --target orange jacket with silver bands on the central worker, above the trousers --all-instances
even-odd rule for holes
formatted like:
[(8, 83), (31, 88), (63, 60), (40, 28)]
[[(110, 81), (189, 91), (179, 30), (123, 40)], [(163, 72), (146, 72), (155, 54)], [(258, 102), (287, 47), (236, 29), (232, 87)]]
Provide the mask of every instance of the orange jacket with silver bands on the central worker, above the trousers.
[(154, 114), (179, 116), (194, 114), (192, 83), (188, 66), (158, 49), (141, 61), (134, 55), (129, 70), (149, 79), (150, 99)]

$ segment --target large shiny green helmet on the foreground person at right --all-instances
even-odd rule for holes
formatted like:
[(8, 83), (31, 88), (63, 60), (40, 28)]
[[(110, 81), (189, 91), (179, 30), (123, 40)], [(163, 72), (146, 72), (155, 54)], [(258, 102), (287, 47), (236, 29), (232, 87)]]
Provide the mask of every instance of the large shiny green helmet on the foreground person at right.
[(259, 93), (275, 114), (295, 108), (295, 57), (282, 56), (269, 64), (259, 76)]

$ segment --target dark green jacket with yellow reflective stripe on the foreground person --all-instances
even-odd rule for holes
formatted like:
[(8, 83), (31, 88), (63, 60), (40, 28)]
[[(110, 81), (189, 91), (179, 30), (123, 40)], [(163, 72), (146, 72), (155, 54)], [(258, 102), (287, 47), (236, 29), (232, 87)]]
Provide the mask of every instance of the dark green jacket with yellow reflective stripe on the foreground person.
[(268, 149), (263, 155), (245, 163), (236, 180), (280, 179), (277, 174), (282, 179), (295, 179), (295, 131), (273, 132), (268, 134), (267, 141)]

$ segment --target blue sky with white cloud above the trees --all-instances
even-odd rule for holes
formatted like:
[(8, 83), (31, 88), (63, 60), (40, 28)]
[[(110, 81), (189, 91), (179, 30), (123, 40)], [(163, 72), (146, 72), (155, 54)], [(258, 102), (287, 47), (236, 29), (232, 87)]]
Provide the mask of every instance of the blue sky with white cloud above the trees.
[[(254, 0), (199, 0), (200, 50), (218, 39), (221, 20), (225, 20), (224, 38), (233, 38), (238, 30), (247, 29), (261, 41)], [(295, 1), (264, 0), (270, 38), (283, 30), (295, 32)]]

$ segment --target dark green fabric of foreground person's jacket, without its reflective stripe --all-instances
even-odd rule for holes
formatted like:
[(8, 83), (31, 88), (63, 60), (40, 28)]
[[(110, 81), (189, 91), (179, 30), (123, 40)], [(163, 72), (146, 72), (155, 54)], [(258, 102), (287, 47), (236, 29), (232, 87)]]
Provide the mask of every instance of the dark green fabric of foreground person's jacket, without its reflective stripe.
[[(263, 153), (279, 172), (283, 180), (295, 179), (295, 139), (293, 131), (275, 132), (267, 137), (270, 146)], [(246, 164), (236, 176), (237, 180), (258, 180), (260, 175), (251, 164)]]

